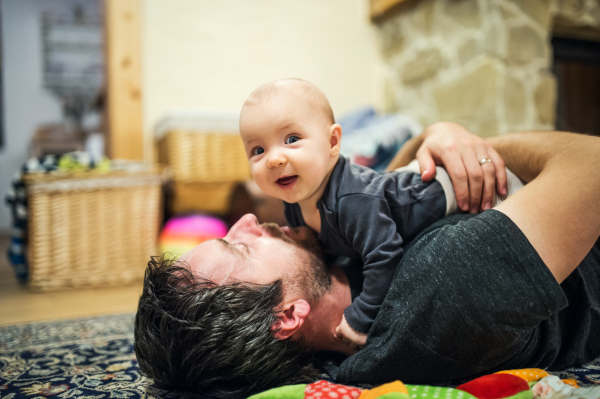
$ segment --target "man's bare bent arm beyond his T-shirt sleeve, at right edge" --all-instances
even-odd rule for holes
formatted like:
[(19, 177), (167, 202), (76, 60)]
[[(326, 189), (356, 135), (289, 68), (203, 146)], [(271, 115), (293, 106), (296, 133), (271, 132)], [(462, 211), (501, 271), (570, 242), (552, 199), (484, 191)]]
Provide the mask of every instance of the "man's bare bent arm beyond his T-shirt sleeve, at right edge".
[(489, 142), (530, 182), (495, 209), (521, 229), (562, 282), (600, 236), (600, 138), (528, 132)]

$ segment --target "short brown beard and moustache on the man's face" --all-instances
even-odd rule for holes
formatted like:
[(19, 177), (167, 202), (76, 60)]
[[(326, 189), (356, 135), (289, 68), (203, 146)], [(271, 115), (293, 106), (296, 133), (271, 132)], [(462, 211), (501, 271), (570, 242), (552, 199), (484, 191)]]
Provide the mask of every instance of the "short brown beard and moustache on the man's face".
[(306, 259), (298, 265), (296, 273), (286, 275), (284, 285), (299, 289), (313, 301), (317, 301), (325, 295), (331, 287), (331, 268), (325, 262), (321, 243), (316, 234), (307, 229), (302, 239), (294, 241), (275, 223), (263, 223), (261, 227), (267, 230), (272, 237), (296, 244), (305, 250)]

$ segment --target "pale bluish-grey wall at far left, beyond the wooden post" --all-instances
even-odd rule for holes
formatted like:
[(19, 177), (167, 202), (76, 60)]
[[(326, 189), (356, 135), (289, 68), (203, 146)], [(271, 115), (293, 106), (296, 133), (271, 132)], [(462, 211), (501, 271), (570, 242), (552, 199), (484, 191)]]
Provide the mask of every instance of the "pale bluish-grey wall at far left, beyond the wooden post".
[[(2, 0), (2, 95), (4, 147), (0, 150), (0, 230), (10, 225), (4, 197), (15, 171), (27, 160), (27, 146), (37, 125), (62, 118), (60, 103), (43, 88), (43, 10), (62, 0)], [(2, 256), (2, 255), (0, 255)]]

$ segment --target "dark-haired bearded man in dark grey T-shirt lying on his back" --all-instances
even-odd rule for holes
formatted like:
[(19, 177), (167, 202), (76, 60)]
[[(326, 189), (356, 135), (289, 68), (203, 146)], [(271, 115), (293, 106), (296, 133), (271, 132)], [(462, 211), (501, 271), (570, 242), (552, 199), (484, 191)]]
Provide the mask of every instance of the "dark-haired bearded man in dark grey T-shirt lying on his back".
[(159, 387), (238, 397), (282, 383), (321, 350), (349, 355), (336, 378), (345, 383), (445, 384), (599, 357), (600, 138), (491, 142), (530, 183), (413, 240), (364, 349), (335, 338), (351, 287), (322, 261), (314, 234), (246, 215), (186, 262), (149, 263), (135, 325), (140, 370)]

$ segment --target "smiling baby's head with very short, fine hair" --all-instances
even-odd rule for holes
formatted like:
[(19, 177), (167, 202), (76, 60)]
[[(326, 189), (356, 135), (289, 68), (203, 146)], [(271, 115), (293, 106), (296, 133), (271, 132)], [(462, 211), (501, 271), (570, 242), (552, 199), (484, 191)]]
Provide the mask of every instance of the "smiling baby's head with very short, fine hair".
[(260, 86), (242, 107), (240, 134), (261, 190), (301, 205), (320, 199), (339, 158), (342, 128), (315, 85), (285, 79)]

